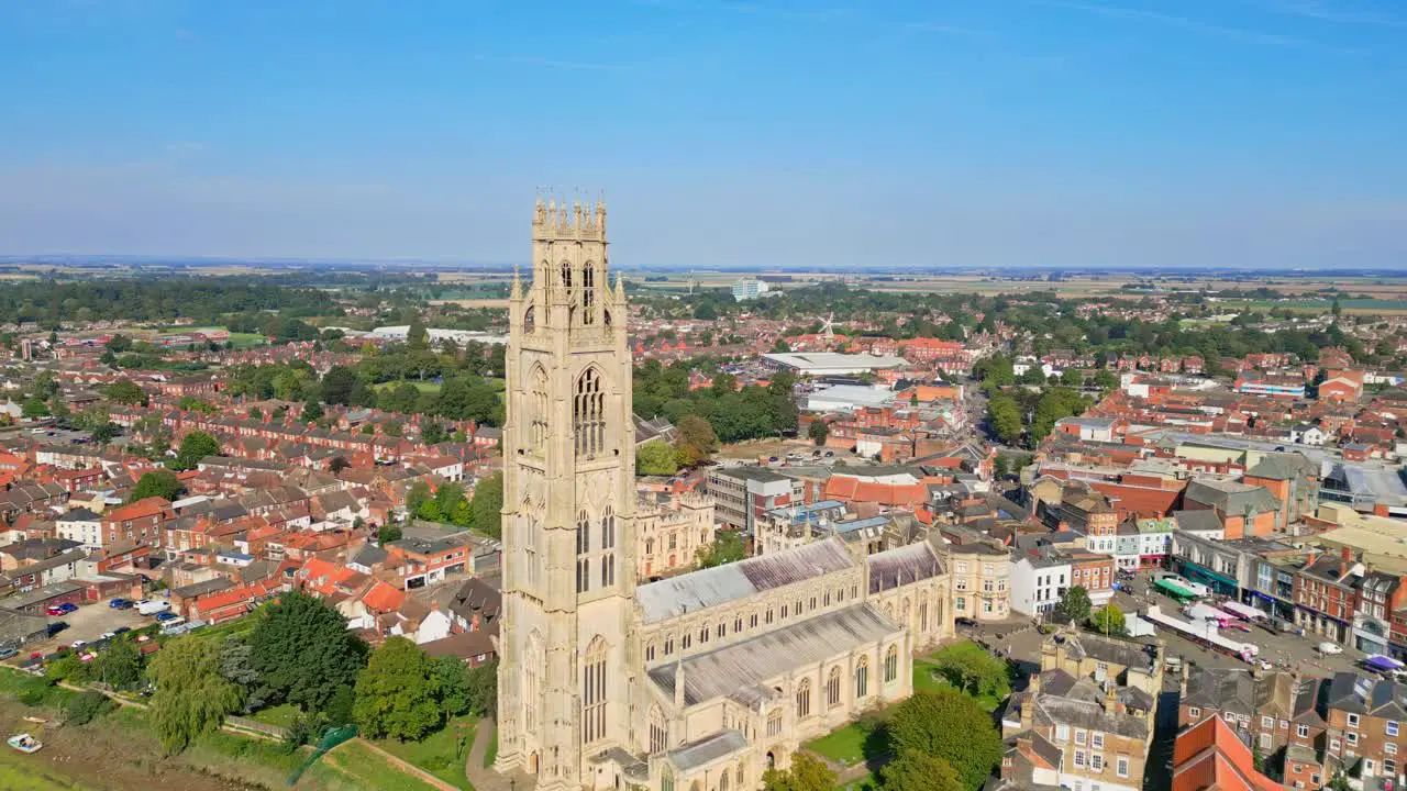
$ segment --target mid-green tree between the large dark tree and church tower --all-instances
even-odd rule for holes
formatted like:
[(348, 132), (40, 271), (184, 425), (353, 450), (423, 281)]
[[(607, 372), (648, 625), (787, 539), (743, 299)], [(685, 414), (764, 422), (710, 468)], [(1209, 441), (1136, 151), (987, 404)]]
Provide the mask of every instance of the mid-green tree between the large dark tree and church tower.
[(416, 740), (443, 722), (435, 664), (405, 638), (390, 638), (371, 652), (356, 680), (353, 714), (362, 733)]

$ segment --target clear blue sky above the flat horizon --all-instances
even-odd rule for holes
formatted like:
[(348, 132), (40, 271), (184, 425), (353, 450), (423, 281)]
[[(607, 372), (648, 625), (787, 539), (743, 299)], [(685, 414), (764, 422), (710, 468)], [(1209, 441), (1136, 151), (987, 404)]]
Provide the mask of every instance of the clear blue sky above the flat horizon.
[(1404, 266), (1390, 0), (0, 0), (0, 253)]

